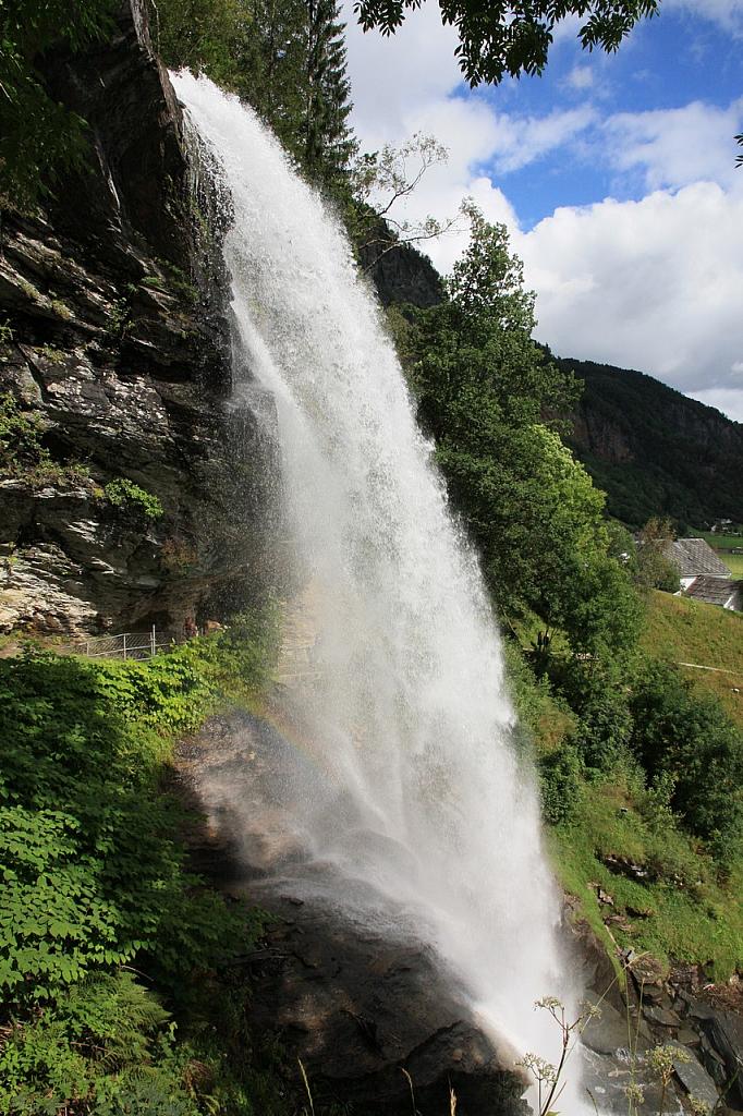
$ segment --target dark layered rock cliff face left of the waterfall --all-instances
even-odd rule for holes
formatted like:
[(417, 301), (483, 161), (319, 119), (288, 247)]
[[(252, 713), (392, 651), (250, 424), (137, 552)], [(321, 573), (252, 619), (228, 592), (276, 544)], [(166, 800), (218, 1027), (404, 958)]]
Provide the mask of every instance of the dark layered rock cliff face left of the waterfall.
[(219, 616), (259, 577), (272, 454), (270, 401), (260, 424), (229, 402), (226, 277), (203, 231), (220, 200), (141, 0), (48, 80), (90, 158), (44, 211), (2, 213), (0, 632)]

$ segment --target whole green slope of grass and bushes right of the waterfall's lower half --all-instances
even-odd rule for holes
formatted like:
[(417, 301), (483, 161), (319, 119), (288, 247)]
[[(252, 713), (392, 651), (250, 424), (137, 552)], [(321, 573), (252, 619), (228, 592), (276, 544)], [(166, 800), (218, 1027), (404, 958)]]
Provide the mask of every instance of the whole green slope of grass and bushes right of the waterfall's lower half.
[(540, 681), (515, 645), (508, 666), (573, 911), (615, 961), (620, 946), (712, 980), (740, 972), (743, 738), (714, 699), (743, 724), (743, 617), (654, 593), (631, 660), (581, 663), (553, 646)]

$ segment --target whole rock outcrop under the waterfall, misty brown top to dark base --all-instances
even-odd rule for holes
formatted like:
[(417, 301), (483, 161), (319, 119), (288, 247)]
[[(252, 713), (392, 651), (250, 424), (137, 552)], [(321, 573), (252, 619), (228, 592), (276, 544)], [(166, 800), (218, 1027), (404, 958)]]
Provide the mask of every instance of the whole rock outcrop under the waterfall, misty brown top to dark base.
[(191, 839), (196, 867), (274, 916), (243, 959), (255, 1036), (301, 1059), (318, 1106), (409, 1116), (412, 1080), (421, 1113), (448, 1112), (451, 1084), (462, 1116), (528, 1116), (517, 1055), (483, 1031), (403, 906), (356, 894), (321, 858), (293, 870), (308, 849), (292, 786), (313, 771), (319, 795), (327, 777), (272, 728), (286, 712), (214, 718), (178, 761), (208, 819)]

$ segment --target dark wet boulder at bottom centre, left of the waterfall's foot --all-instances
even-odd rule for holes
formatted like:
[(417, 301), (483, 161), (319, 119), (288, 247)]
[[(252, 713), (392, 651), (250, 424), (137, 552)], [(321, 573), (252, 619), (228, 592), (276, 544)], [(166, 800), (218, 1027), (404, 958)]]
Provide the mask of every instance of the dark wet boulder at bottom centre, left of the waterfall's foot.
[(316, 1105), (408, 1116), (525, 1116), (524, 1079), (452, 992), (435, 958), (292, 896), (268, 899), (279, 923), (252, 968), (251, 1023), (301, 1058)]

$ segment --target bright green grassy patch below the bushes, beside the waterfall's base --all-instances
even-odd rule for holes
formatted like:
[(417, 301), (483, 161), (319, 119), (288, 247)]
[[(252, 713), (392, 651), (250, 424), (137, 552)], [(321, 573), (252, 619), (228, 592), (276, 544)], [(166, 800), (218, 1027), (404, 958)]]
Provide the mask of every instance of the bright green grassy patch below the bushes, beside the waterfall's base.
[[(616, 944), (704, 968), (711, 980), (743, 969), (743, 864), (730, 875), (686, 836), (631, 772), (583, 781), (575, 818), (548, 830), (565, 891), (610, 955)], [(611, 904), (601, 902), (609, 897)]]

